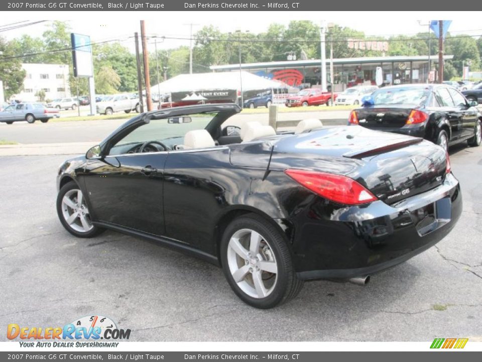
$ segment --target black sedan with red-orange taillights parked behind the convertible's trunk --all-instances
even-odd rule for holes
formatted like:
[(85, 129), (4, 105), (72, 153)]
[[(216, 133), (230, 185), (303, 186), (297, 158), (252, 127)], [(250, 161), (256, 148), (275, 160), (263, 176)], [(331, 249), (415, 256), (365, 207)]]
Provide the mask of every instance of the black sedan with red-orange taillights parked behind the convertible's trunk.
[(447, 149), (480, 145), (482, 115), (474, 101), (445, 84), (395, 85), (378, 89), (350, 113), (348, 124), (421, 137)]

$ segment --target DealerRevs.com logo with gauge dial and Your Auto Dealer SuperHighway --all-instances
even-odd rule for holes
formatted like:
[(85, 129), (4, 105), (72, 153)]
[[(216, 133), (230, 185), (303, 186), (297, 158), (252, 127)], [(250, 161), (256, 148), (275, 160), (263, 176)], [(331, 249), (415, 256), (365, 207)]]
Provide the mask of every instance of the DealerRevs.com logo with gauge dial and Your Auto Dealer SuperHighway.
[(113, 340), (130, 336), (130, 329), (119, 329), (114, 321), (101, 315), (78, 318), (63, 327), (25, 327), (16, 323), (7, 327), (7, 338), (21, 339), (21, 347), (117, 347), (119, 343)]

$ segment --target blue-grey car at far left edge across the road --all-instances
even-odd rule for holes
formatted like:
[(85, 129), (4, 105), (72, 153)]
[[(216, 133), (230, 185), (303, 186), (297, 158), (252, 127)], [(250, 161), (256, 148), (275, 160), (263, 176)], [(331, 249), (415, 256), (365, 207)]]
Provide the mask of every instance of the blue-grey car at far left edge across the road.
[(0, 111), (0, 122), (12, 124), (17, 121), (34, 123), (36, 120), (46, 123), (51, 118), (58, 118), (59, 110), (47, 108), (41, 103), (19, 103), (9, 105)]

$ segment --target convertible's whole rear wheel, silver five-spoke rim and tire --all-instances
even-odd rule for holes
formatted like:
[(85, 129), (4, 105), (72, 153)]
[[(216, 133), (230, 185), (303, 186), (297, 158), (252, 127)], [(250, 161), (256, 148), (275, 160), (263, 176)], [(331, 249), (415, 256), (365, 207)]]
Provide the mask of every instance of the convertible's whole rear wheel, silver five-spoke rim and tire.
[(281, 232), (255, 215), (235, 219), (226, 228), (221, 258), (229, 285), (245, 303), (272, 308), (294, 298), (303, 285), (293, 270)]

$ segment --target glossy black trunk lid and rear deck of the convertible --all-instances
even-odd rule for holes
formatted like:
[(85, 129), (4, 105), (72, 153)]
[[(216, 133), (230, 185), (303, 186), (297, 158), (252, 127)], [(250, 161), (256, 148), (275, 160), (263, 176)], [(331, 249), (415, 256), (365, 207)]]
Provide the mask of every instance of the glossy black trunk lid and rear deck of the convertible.
[(446, 155), (441, 147), (364, 127), (323, 129), (273, 143), (270, 169), (342, 174), (387, 204), (431, 190), (441, 185), (445, 176)]

